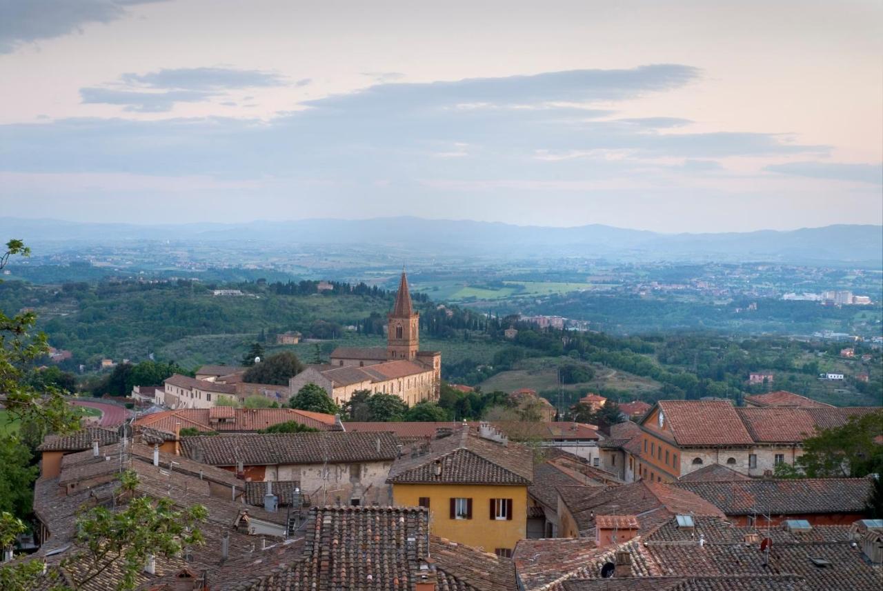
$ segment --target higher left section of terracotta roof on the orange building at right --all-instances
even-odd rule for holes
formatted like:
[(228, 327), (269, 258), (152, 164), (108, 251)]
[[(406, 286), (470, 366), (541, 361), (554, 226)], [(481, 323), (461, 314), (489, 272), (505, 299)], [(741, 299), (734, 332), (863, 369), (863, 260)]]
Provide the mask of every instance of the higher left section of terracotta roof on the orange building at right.
[(665, 414), (677, 445), (754, 443), (728, 400), (660, 400), (657, 405)]

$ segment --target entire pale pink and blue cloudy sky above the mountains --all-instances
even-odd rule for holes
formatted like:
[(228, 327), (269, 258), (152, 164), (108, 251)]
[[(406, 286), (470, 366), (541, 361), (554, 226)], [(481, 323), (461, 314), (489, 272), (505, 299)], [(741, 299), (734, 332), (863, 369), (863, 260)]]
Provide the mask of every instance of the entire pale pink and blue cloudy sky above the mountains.
[(883, 3), (0, 0), (0, 216), (883, 223)]

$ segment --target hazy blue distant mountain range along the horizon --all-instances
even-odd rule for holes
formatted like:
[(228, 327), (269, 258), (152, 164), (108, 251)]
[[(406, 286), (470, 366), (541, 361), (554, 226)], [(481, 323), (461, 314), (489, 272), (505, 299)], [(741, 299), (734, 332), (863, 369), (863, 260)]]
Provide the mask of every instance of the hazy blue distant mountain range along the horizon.
[(428, 220), (250, 221), (137, 225), (0, 218), (0, 236), (28, 243), (266, 241), (291, 244), (384, 244), (415, 251), (502, 257), (582, 256), (626, 260), (839, 262), (883, 266), (883, 226), (833, 225), (789, 231), (660, 234), (600, 224), (573, 228), (500, 222)]

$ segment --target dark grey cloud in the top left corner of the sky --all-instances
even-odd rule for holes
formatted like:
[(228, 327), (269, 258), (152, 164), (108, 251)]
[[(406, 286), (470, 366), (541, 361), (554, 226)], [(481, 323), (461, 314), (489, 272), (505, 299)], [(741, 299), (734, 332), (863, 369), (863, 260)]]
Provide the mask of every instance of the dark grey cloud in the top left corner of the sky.
[(25, 43), (81, 30), (88, 23), (109, 23), (127, 14), (126, 6), (163, 0), (0, 0), (0, 54)]

